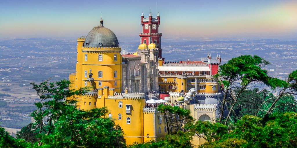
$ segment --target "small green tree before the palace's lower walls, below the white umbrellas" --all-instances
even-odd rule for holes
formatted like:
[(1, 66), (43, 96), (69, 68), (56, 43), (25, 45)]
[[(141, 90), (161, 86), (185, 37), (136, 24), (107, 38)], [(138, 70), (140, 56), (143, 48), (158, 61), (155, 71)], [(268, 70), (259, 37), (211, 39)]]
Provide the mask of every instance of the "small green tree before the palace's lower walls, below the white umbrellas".
[(190, 110), (178, 106), (160, 104), (158, 111), (164, 115), (168, 135), (183, 130), (184, 125), (193, 120)]

